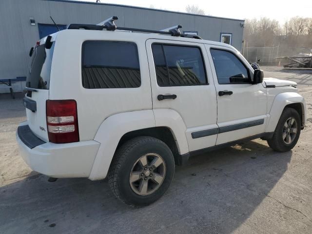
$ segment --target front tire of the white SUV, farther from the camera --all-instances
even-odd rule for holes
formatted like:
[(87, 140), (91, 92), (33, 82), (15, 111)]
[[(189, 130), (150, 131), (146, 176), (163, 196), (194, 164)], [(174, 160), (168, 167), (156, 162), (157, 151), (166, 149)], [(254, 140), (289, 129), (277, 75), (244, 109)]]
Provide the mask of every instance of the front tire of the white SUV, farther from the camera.
[[(288, 123), (292, 122), (292, 119), (294, 119), (293, 122), (296, 123), (296, 126), (292, 124), (291, 127), (286, 127), (286, 125), (289, 125)], [(296, 129), (296, 134), (292, 135), (294, 129)], [(273, 137), (268, 140), (268, 144), (273, 150), (278, 152), (290, 151), (296, 145), (300, 131), (301, 118), (298, 112), (293, 108), (285, 108), (278, 120)], [(284, 139), (285, 134), (286, 138)], [(291, 138), (287, 137), (287, 135), (290, 135)]]

